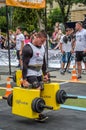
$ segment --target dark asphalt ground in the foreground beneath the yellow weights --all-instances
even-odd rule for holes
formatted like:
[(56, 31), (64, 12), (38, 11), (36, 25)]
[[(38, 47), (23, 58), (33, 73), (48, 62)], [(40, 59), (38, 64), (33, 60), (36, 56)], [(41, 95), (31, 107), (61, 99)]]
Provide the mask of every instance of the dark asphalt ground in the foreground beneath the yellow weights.
[(5, 100), (0, 101), (0, 130), (86, 130), (86, 113), (68, 109), (49, 111), (46, 122), (11, 114)]

